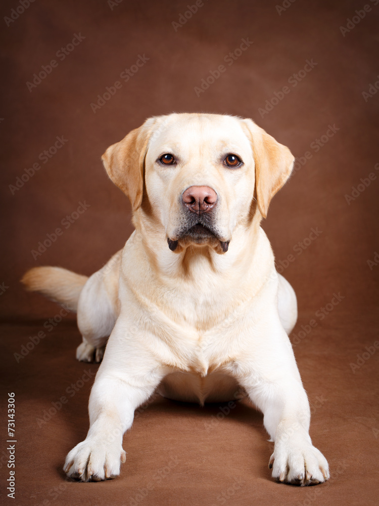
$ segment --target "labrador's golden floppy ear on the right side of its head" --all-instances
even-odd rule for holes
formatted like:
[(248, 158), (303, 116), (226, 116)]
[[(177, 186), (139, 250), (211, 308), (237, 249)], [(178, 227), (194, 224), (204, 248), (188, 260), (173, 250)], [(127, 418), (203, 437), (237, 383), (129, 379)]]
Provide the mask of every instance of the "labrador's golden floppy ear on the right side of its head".
[(290, 177), (295, 158), (288, 147), (275, 141), (253, 120), (242, 121), (248, 128), (254, 154), (258, 208), (266, 218), (270, 201)]

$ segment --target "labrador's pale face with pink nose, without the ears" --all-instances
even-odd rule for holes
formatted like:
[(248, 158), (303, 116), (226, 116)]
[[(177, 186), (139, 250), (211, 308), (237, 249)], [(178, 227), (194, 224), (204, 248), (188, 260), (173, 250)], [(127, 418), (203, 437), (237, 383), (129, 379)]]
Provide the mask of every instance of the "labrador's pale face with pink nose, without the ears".
[(226, 251), (249, 214), (254, 180), (250, 142), (235, 118), (169, 116), (150, 140), (146, 192), (172, 250), (180, 242)]

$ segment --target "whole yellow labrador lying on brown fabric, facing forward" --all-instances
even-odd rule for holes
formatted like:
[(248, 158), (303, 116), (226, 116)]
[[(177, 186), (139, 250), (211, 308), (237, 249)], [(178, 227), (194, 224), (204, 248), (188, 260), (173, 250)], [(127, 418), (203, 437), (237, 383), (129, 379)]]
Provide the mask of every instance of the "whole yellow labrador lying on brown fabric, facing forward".
[(272, 477), (327, 480), (288, 338), (296, 295), (260, 227), (292, 172), (290, 150), (251, 119), (174, 113), (147, 119), (102, 159), (132, 206), (125, 247), (89, 278), (57, 267), (23, 278), (27, 289), (77, 309), (76, 356), (102, 361), (87, 437), (64, 471), (81, 481), (118, 476), (122, 436), (157, 389), (200, 404), (240, 389), (274, 442)]

